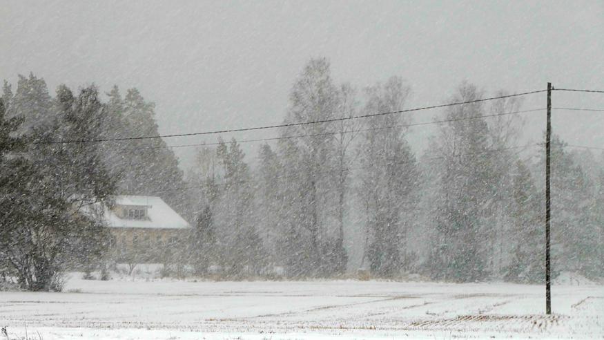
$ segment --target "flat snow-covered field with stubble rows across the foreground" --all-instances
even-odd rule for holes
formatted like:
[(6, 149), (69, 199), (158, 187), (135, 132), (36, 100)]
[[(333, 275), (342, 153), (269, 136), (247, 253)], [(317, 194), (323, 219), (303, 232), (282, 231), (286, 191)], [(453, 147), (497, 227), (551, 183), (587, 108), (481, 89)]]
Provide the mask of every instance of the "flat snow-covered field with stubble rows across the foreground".
[(0, 292), (9, 339), (604, 339), (604, 286), (84, 281)]

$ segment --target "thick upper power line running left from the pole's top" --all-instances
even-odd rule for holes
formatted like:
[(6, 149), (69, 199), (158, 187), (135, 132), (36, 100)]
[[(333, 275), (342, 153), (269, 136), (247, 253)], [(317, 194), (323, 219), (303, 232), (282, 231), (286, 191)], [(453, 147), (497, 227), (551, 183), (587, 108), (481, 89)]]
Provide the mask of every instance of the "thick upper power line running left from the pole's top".
[(360, 118), (378, 117), (378, 116), (382, 116), (382, 115), (393, 115), (393, 114), (398, 114), (398, 113), (422, 111), (422, 110), (428, 110), (431, 108), (442, 108), (442, 107), (447, 107), (447, 106), (472, 104), (472, 103), (478, 103), (478, 102), (486, 102), (489, 100), (498, 100), (498, 99), (504, 99), (504, 98), (509, 98), (509, 97), (517, 97), (520, 95), (531, 95), (534, 93), (541, 93), (541, 92), (545, 92), (545, 91), (547, 91), (547, 90), (529, 91), (529, 92), (524, 92), (524, 93), (516, 93), (513, 95), (500, 95), (498, 97), (489, 97), (489, 98), (483, 98), (480, 100), (469, 100), (466, 102), (455, 102), (455, 103), (449, 103), (449, 104), (423, 106), (423, 107), (418, 107), (418, 108), (408, 108), (406, 110), (371, 113), (368, 115), (356, 115), (356, 116), (351, 116), (351, 117), (340, 117), (340, 118), (330, 118), (330, 119), (326, 119), (326, 120), (315, 120), (315, 121), (311, 121), (311, 122), (286, 123), (286, 124), (276, 124), (276, 125), (267, 125), (267, 126), (255, 126), (255, 127), (251, 127), (251, 128), (204, 131), (204, 132), (194, 132), (194, 133), (177, 133), (177, 134), (172, 134), (172, 135), (139, 136), (139, 137), (126, 137), (126, 138), (106, 138), (106, 139), (97, 139), (97, 140), (57, 140), (57, 141), (46, 141), (46, 142), (39, 141), (39, 142), (33, 142), (33, 144), (74, 144), (74, 143), (116, 142), (116, 141), (121, 141), (121, 140), (148, 140), (148, 139), (157, 139), (157, 138), (187, 137), (187, 136), (192, 136), (192, 135), (213, 135), (213, 134), (217, 134), (217, 133), (231, 133), (231, 132), (241, 132), (241, 131), (263, 130), (263, 129), (276, 129), (276, 128), (300, 126), (300, 125), (308, 125), (308, 124), (341, 122), (343, 120), (355, 120), (355, 119), (360, 119)]

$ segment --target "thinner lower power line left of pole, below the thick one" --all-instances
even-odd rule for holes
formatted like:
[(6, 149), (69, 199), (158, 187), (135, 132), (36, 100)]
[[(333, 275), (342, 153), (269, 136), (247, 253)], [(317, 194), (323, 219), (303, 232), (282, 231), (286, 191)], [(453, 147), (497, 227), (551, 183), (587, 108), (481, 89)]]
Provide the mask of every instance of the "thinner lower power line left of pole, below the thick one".
[[(252, 139), (252, 140), (237, 140), (237, 143), (266, 142), (266, 141), (271, 141), (271, 140), (289, 140), (289, 139), (292, 139), (292, 138), (318, 137), (318, 136), (322, 136), (322, 135), (338, 135), (340, 133), (354, 133), (354, 132), (365, 132), (365, 131), (395, 129), (395, 128), (398, 128), (398, 127), (412, 127), (412, 126), (422, 126), (422, 125), (429, 125), (429, 124), (442, 124), (442, 123), (446, 123), (446, 122), (459, 122), (459, 121), (463, 121), (463, 120), (477, 120), (477, 119), (485, 118), (485, 117), (498, 117), (498, 116), (504, 116), (504, 115), (515, 115), (515, 114), (518, 114), (518, 113), (529, 113), (529, 112), (543, 111), (543, 110), (545, 110), (545, 108), (532, 108), (530, 110), (521, 110), (521, 111), (504, 112), (504, 113), (494, 113), (494, 114), (490, 114), (490, 115), (477, 115), (477, 116), (474, 116), (474, 117), (456, 118), (456, 119), (451, 119), (451, 120), (435, 120), (435, 121), (432, 121), (432, 122), (419, 122), (419, 123), (411, 123), (411, 124), (396, 124), (396, 125), (389, 125), (389, 126), (380, 126), (380, 127), (376, 127), (376, 128), (356, 129), (356, 130), (349, 130), (349, 131), (332, 131), (332, 132), (326, 132), (326, 133), (313, 133), (313, 134), (306, 134), (306, 135), (289, 135), (289, 136), (273, 137), (273, 138), (257, 138), (257, 139)], [(204, 146), (219, 145), (219, 144), (220, 144), (220, 142), (196, 143), (196, 144), (179, 144), (179, 145), (166, 145), (166, 146), (163, 146), (163, 147), (140, 147), (140, 148), (132, 148), (132, 149), (121, 149), (121, 151), (146, 150), (146, 149), (168, 149), (168, 148), (180, 148), (180, 147), (204, 147)]]

